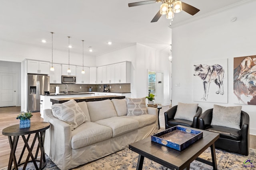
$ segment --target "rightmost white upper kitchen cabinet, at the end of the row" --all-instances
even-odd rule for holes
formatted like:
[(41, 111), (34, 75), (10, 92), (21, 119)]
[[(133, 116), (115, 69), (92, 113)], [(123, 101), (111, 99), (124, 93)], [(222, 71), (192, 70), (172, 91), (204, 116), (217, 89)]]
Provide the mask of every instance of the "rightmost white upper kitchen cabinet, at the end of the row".
[(131, 62), (126, 61), (116, 63), (115, 65), (115, 83), (130, 83), (131, 82)]

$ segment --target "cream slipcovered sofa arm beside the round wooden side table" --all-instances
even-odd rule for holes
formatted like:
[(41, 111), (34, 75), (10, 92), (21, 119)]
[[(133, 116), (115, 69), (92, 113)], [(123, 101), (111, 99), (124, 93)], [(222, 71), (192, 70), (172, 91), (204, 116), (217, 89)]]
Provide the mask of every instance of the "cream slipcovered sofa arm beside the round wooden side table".
[[(71, 126), (54, 117), (51, 109), (44, 110), (44, 121), (51, 124), (45, 134), (44, 149), (46, 154), (56, 165), (60, 165), (59, 167), (71, 164)], [(63, 155), (67, 157), (62, 158)]]

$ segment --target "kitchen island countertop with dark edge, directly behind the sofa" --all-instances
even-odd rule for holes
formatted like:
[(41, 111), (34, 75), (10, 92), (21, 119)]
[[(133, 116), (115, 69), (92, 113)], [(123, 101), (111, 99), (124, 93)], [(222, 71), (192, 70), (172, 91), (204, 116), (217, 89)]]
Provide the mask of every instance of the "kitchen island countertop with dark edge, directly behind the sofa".
[(52, 98), (52, 104), (62, 104), (68, 100), (75, 100), (76, 102), (94, 102), (107, 99), (124, 99), (125, 96), (88, 96), (88, 97), (75, 97), (75, 98)]

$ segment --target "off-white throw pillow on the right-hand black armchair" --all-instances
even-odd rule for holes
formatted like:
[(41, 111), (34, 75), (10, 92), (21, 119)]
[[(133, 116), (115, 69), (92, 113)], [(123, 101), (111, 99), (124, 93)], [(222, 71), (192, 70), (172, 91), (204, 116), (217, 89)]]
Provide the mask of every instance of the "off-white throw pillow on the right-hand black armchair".
[(240, 129), (242, 106), (225, 107), (215, 105), (212, 110), (211, 125)]

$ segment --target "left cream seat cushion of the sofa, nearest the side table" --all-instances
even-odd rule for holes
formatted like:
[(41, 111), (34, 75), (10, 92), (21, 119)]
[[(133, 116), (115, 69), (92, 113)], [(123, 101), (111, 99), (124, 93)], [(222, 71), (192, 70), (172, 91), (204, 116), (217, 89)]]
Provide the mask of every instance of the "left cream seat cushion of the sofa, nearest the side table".
[(94, 122), (85, 122), (72, 131), (71, 148), (79, 149), (112, 137), (112, 129)]

